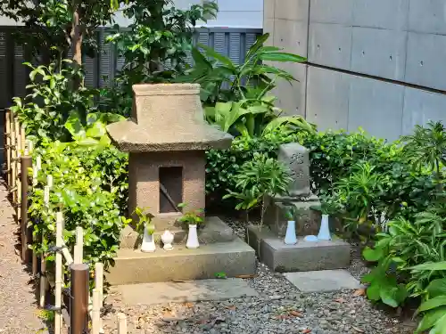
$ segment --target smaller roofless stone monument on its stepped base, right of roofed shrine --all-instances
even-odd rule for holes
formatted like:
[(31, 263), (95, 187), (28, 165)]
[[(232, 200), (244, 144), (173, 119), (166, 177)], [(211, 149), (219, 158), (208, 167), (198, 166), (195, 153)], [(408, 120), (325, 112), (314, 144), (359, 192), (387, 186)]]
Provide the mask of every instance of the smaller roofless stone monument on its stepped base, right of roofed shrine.
[[(320, 206), (318, 197), (310, 191), (309, 150), (299, 143), (280, 145), (278, 159), (289, 167), (293, 182), (289, 196), (267, 198), (265, 224), (248, 226), (247, 241), (256, 249), (260, 261), (277, 272), (301, 272), (338, 269), (350, 264), (350, 245), (339, 239), (331, 241), (303, 240), (306, 235), (317, 235), (321, 215), (311, 207)], [(298, 242), (285, 245), (288, 220), (293, 213)]]

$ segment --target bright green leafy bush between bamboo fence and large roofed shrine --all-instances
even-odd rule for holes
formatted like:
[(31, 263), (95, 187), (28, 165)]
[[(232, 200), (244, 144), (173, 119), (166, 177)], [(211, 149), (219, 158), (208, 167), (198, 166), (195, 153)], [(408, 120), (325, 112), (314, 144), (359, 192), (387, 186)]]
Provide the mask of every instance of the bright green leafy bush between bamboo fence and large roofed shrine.
[[(62, 210), (63, 237), (68, 247), (74, 245), (74, 231), (81, 226), (86, 261), (109, 265), (119, 247), (121, 215), (126, 209), (120, 205), (127, 200), (121, 197), (127, 191), (127, 156), (110, 143), (85, 146), (58, 141), (42, 143), (37, 154), (44, 161), (37, 186), (30, 194), (29, 215), (36, 236), (33, 248), (41, 253), (54, 246), (55, 213)], [(43, 194), (46, 175), (54, 178), (48, 208)], [(40, 242), (42, 237), (44, 243)]]

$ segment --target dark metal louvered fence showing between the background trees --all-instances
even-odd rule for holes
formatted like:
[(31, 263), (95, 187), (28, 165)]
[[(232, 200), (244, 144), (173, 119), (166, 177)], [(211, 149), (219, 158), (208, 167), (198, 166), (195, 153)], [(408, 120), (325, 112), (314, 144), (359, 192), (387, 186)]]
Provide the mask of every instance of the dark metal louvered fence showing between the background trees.
[[(26, 94), (25, 86), (29, 78), (29, 70), (23, 65), (28, 57), (21, 45), (17, 45), (13, 40), (14, 29), (20, 28), (0, 27), (0, 110), (11, 105), (12, 97), (23, 97)], [(123, 66), (124, 60), (119, 57), (114, 47), (104, 43), (108, 34), (111, 34), (110, 29), (97, 30), (100, 52), (95, 58), (84, 59), (87, 73), (85, 83), (89, 87), (107, 86)], [(247, 50), (260, 34), (261, 29), (196, 29), (194, 44), (211, 46), (235, 63), (240, 63), (244, 61)], [(192, 57), (188, 57), (188, 62), (192, 64)], [(108, 77), (108, 80), (105, 77)]]

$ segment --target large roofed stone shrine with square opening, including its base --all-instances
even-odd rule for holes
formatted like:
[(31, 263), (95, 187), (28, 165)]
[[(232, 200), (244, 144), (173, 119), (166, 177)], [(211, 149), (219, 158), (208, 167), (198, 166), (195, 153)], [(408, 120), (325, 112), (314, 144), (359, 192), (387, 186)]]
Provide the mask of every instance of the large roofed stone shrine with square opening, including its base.
[(203, 117), (200, 86), (159, 84), (133, 86), (130, 119), (111, 124), (113, 143), (129, 153), (128, 209), (149, 208), (155, 240), (174, 234), (173, 250), (138, 253), (132, 226), (121, 233), (120, 251), (111, 268), (111, 284), (212, 278), (255, 272), (255, 255), (217, 217), (206, 217), (199, 234), (202, 247), (186, 249), (186, 228), (178, 224), (179, 203), (187, 210), (205, 206), (205, 151), (227, 149), (232, 136), (208, 125)]

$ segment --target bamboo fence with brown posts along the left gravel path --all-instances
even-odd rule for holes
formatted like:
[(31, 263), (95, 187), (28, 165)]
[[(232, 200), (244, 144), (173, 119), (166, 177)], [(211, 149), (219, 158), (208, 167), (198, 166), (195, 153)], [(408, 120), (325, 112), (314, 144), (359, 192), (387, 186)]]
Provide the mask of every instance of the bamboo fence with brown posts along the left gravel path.
[[(10, 200), (15, 210), (15, 222), (21, 226), (21, 260), (26, 265), (32, 265), (32, 273), (35, 277), (40, 276), (38, 281), (39, 305), (42, 308), (54, 311), (54, 334), (61, 334), (64, 317), (62, 310), (69, 310), (65, 320), (70, 327), (70, 334), (83, 334), (88, 332), (88, 325), (91, 321), (91, 334), (103, 333), (101, 309), (103, 308), (103, 264), (95, 264), (95, 289), (92, 294), (89, 291), (89, 266), (83, 264), (83, 230), (76, 228), (76, 245), (73, 249), (73, 256), (63, 240), (63, 215), (56, 212), (55, 237), (56, 245), (53, 249), (55, 253), (55, 273), (54, 278), (46, 272), (45, 255), (37, 255), (29, 247), (32, 242), (36, 242), (32, 233), (32, 222), (29, 222), (29, 189), (37, 186), (37, 175), (42, 168), (42, 158), (34, 157), (33, 164), (33, 143), (26, 139), (25, 128), (21, 126), (17, 115), (11, 110), (6, 110), (4, 120), (4, 154), (5, 169), (4, 179), (11, 194)], [(32, 170), (32, 175), (29, 175)], [(50, 209), (50, 193), (53, 187), (53, 176), (46, 175), (44, 186), (44, 204), (46, 209)], [(70, 275), (65, 276), (63, 265), (70, 267)], [(69, 284), (65, 284), (64, 278), (70, 279)], [(54, 305), (45, 304), (46, 294), (50, 288), (54, 288)], [(70, 289), (67, 287), (70, 286)], [(65, 289), (69, 292), (70, 305), (63, 305), (63, 293)], [(128, 334), (126, 314), (117, 315), (118, 333)]]

